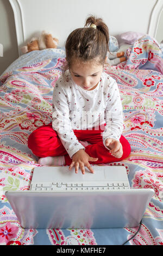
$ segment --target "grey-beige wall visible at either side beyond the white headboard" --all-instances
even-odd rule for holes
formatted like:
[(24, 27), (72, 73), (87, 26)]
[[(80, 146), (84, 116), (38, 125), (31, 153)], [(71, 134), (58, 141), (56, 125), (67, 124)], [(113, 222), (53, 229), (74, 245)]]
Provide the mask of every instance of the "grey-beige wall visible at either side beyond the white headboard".
[[(163, 40), (163, 11), (156, 40)], [(0, 0), (0, 43), (3, 44), (3, 57), (0, 57), (0, 75), (18, 58), (14, 14), (8, 0)]]

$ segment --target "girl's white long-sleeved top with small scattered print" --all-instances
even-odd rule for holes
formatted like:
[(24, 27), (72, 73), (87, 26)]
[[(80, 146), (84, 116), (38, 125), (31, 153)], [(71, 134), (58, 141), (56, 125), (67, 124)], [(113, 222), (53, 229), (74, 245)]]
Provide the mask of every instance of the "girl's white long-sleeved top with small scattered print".
[[(123, 113), (120, 92), (114, 78), (105, 72), (93, 90), (77, 86), (68, 72), (68, 79), (61, 75), (53, 91), (52, 126), (61, 143), (71, 157), (80, 149), (85, 149), (73, 130), (91, 130), (105, 125), (102, 133), (106, 138), (119, 141), (123, 130)], [(98, 129), (97, 129), (98, 130)]]

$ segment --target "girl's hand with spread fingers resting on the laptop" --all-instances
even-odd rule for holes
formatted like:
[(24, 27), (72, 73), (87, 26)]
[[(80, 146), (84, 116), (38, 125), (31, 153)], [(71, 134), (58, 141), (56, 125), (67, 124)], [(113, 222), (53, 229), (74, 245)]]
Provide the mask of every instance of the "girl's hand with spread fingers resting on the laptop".
[(82, 170), (82, 173), (85, 174), (84, 166), (86, 166), (90, 170), (90, 172), (93, 173), (94, 171), (89, 161), (95, 162), (97, 160), (98, 158), (93, 158), (89, 156), (83, 149), (80, 149), (73, 155), (72, 163), (70, 164), (69, 170), (71, 170), (71, 168), (75, 166), (75, 171), (76, 173), (78, 173), (78, 168), (80, 167), (80, 169)]

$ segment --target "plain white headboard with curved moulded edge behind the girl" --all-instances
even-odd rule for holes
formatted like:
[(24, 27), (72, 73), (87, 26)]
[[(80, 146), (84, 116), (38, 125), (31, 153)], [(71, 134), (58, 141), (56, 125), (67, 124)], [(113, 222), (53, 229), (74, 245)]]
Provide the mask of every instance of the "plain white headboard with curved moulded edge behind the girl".
[(84, 27), (90, 14), (102, 17), (110, 35), (127, 31), (156, 35), (163, 0), (9, 0), (14, 11), (18, 53), (45, 30), (64, 46), (68, 34)]

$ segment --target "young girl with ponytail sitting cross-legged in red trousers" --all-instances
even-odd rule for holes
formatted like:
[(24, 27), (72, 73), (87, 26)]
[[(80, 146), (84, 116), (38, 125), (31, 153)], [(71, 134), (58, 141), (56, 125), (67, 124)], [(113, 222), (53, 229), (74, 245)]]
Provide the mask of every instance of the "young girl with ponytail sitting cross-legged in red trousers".
[(28, 139), (42, 166), (74, 166), (76, 173), (80, 167), (83, 174), (86, 166), (93, 173), (91, 163), (121, 161), (130, 154), (130, 144), (122, 136), (117, 83), (103, 72), (108, 43), (108, 27), (93, 16), (68, 36), (67, 66), (53, 92), (52, 123)]

